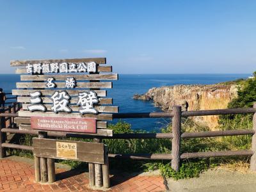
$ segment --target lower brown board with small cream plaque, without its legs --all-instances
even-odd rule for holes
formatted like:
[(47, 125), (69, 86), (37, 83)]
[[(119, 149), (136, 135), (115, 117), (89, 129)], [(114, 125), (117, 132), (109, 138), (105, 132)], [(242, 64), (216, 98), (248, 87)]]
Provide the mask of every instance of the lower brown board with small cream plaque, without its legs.
[(36, 157), (104, 164), (105, 147), (103, 143), (33, 138), (33, 153)]

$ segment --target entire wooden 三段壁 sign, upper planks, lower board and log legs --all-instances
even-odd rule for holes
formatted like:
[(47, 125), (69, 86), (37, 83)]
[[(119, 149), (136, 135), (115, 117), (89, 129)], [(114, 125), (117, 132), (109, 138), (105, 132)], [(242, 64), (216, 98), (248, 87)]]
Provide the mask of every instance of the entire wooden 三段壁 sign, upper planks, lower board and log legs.
[[(111, 106), (113, 99), (106, 98), (104, 89), (112, 88), (108, 81), (117, 80), (118, 75), (109, 74), (112, 67), (104, 64), (106, 58), (11, 61), (11, 66), (19, 67), (16, 73), (22, 74), (22, 82), (12, 91), (22, 103), (15, 123), (19, 129), (38, 130), (38, 138), (33, 138), (36, 181), (54, 182), (54, 159), (73, 159), (89, 163), (90, 186), (102, 187), (103, 183), (109, 187), (108, 148), (100, 140), (84, 143), (46, 139), (52, 131), (113, 136), (106, 121), (112, 120), (118, 107)], [(58, 148), (62, 145), (64, 148)], [(95, 152), (95, 146), (101, 146), (100, 153)], [(43, 148), (51, 153), (44, 153)], [(84, 159), (81, 154), (90, 154), (91, 159)]]

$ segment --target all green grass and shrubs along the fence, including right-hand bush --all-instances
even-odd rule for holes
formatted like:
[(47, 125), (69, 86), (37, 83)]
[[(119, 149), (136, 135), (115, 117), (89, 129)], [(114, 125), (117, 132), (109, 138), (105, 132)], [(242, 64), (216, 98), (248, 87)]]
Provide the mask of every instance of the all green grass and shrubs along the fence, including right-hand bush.
[[(254, 73), (256, 76), (256, 72)], [(256, 78), (236, 81), (240, 85), (238, 97), (228, 104), (228, 108), (248, 108), (256, 101)], [(131, 125), (125, 122), (110, 124), (109, 129), (115, 133), (135, 133), (145, 131), (133, 131)], [(220, 130), (252, 129), (252, 115), (223, 115), (220, 116)], [(171, 132), (172, 126), (166, 125), (162, 132)], [(210, 131), (208, 127), (195, 124), (189, 118), (182, 119), (182, 132)], [(20, 143), (31, 145), (31, 136), (25, 135)], [(67, 139), (67, 138), (66, 138)], [(71, 138), (69, 138), (71, 140)], [(72, 139), (74, 140), (74, 138)], [(76, 139), (81, 140), (81, 139)], [(83, 140), (92, 141), (92, 140)], [(216, 138), (191, 138), (181, 142), (182, 152), (207, 152), (219, 150), (245, 150), (251, 147), (252, 136), (225, 136)], [(145, 140), (103, 140), (109, 147), (111, 154), (140, 154), (140, 153), (170, 153), (172, 152), (172, 141), (168, 139), (145, 139)], [(9, 150), (10, 154), (33, 158), (31, 152), (24, 150)], [(124, 171), (160, 170), (163, 177), (173, 179), (186, 179), (198, 177), (200, 173), (220, 164), (247, 163), (250, 158), (242, 157), (214, 157), (205, 159), (189, 159), (183, 161), (179, 172), (174, 172), (170, 166), (170, 161), (137, 161), (129, 159), (110, 159), (110, 167), (122, 169)], [(76, 161), (62, 161), (60, 163), (69, 164), (72, 168), (84, 166), (84, 163)]]

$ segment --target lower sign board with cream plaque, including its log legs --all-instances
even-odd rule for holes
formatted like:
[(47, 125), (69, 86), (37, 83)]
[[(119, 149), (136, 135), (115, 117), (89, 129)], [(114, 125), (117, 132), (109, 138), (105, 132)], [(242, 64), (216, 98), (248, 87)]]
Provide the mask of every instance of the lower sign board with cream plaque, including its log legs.
[[(88, 143), (82, 141), (51, 140), (33, 138), (33, 153), (35, 155), (35, 179), (39, 182), (47, 175), (48, 182), (55, 181), (53, 159), (83, 161), (102, 164), (102, 180), (104, 188), (109, 188), (108, 148), (103, 143)], [(40, 169), (39, 157), (47, 158), (47, 170)], [(90, 184), (101, 179), (101, 175), (89, 168)], [(94, 185), (93, 185), (94, 186)]]

